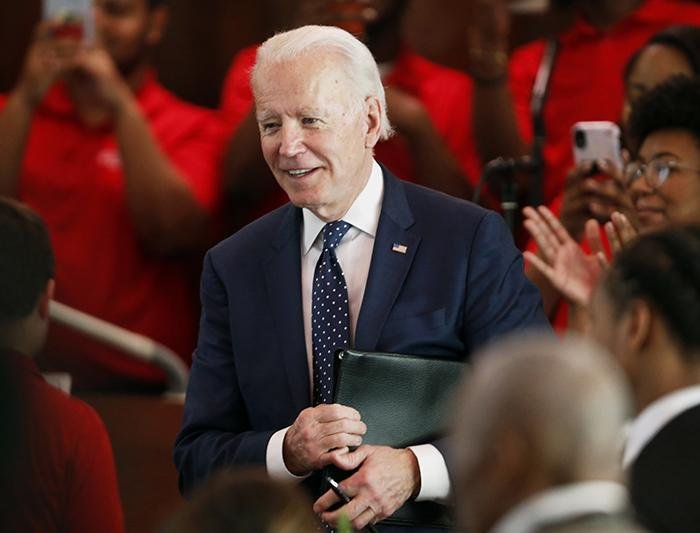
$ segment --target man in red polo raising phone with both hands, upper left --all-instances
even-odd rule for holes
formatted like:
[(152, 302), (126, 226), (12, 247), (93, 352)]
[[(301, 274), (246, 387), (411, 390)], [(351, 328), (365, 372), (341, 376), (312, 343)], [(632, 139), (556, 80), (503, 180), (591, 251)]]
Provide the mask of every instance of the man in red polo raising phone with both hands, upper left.
[[(166, 15), (159, 0), (97, 0), (92, 46), (39, 25), (0, 102), (0, 195), (46, 220), (57, 300), (189, 361), (198, 308), (187, 254), (205, 244), (223, 131), (156, 80), (149, 57)], [(80, 388), (164, 383), (158, 368), (58, 327), (46, 360)]]

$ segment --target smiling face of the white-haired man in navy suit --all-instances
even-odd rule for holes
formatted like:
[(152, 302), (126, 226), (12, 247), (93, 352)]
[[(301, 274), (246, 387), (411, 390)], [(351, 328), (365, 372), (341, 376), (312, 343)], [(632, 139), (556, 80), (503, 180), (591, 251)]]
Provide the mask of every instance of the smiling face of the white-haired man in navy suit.
[(326, 221), (367, 183), (381, 123), (377, 98), (359, 98), (340, 61), (305, 53), (264, 65), (253, 82), (265, 161), (294, 205)]

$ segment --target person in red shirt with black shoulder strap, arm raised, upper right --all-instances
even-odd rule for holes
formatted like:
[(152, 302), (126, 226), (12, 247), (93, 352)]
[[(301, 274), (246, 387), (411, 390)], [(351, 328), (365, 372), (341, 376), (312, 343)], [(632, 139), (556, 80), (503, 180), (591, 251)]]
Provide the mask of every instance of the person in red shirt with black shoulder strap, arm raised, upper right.
[[(483, 161), (531, 151), (530, 104), (547, 42), (508, 55), (507, 2), (474, 0), (488, 11), (470, 24), (470, 67), (475, 81), (474, 131)], [(543, 108), (545, 141), (542, 200), (562, 192), (573, 164), (570, 130), (575, 122), (616, 121), (624, 97), (623, 71), (632, 54), (654, 33), (673, 24), (700, 24), (700, 4), (682, 0), (573, 0), (573, 19), (556, 36), (558, 49)], [(476, 53), (479, 52), (479, 53)], [(521, 184), (527, 192), (528, 183)]]

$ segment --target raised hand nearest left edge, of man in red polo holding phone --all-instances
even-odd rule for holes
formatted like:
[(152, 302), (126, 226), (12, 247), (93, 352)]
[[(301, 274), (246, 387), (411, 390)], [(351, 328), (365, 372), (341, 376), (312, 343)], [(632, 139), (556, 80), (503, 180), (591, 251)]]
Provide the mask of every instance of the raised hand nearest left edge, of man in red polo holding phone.
[(56, 23), (48, 21), (37, 26), (24, 60), (15, 91), (30, 109), (34, 109), (49, 87), (66, 73), (80, 48), (80, 41), (75, 38), (55, 38), (56, 27)]

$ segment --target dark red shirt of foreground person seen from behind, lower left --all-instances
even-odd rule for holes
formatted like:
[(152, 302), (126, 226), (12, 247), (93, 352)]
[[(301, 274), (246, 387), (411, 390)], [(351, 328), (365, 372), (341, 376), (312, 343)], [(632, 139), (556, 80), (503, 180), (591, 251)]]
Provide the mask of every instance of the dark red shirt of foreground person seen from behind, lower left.
[(46, 383), (29, 357), (0, 357), (19, 389), (16, 442), (22, 446), (11, 465), (14, 479), (0, 502), (2, 530), (123, 532), (112, 447), (100, 417), (86, 403)]

